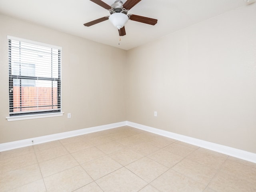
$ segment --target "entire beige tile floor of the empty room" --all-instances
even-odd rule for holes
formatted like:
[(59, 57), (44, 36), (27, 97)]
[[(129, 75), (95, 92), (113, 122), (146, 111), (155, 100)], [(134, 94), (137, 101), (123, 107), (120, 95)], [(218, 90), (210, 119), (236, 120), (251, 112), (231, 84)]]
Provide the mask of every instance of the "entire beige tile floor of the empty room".
[(0, 152), (1, 192), (256, 192), (256, 164), (128, 126)]

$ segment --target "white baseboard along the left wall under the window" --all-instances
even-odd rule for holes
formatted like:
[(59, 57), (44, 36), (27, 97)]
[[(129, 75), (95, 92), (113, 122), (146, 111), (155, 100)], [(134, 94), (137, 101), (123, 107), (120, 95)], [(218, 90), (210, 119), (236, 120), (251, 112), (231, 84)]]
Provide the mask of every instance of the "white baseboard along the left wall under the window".
[(11, 150), (11, 149), (16, 149), (16, 148), (21, 148), (21, 147), (26, 147), (26, 146), (31, 146), (33, 144), (40, 144), (40, 143), (45, 143), (45, 142), (49, 142), (49, 141), (55, 141), (55, 140), (60, 140), (60, 139), (64, 139), (64, 138), (88, 134), (88, 133), (92, 133), (92, 132), (98, 132), (98, 131), (102, 131), (102, 130), (117, 128), (117, 127), (121, 127), (121, 126), (126, 126), (126, 124), (127, 124), (127, 122), (124, 121), (124, 122), (112, 123), (112, 124), (107, 124), (107, 125), (102, 125), (102, 126), (95, 126), (95, 127), (90, 127), (90, 128), (74, 130), (74, 131), (68, 131), (68, 132), (63, 132), (63, 133), (57, 133), (57, 134), (52, 134), (52, 135), (46, 135), (46, 136), (41, 136), (41, 137), (36, 137), (36, 138), (18, 140), (18, 141), (14, 141), (14, 142), (2, 143), (2, 144), (0, 144), (0, 152)]

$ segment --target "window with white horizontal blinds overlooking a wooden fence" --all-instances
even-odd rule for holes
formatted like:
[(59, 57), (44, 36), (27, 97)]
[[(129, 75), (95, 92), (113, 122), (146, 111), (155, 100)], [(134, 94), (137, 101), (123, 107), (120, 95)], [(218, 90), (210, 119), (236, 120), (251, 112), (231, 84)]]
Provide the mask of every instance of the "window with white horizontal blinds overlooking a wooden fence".
[(61, 110), (61, 48), (8, 36), (10, 116)]

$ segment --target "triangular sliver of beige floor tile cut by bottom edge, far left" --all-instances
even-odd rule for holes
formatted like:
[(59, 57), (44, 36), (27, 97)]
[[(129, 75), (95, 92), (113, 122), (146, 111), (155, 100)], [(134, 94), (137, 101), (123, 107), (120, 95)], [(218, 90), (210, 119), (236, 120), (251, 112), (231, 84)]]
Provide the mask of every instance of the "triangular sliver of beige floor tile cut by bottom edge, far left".
[(42, 179), (25, 184), (8, 192), (46, 192), (44, 181)]

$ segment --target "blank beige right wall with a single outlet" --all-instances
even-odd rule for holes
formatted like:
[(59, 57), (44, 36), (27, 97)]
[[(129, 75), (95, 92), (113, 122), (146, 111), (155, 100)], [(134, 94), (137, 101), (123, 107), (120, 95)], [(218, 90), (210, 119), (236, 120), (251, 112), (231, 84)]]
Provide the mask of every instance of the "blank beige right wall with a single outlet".
[(256, 153), (256, 4), (127, 57), (128, 121)]

